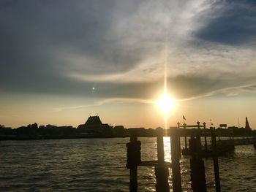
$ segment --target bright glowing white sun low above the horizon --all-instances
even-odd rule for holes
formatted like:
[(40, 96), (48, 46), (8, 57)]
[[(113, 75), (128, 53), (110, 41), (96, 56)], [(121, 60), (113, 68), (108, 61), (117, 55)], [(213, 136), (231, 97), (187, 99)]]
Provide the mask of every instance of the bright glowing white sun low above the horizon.
[(176, 106), (176, 102), (167, 93), (163, 93), (162, 96), (157, 99), (157, 107), (164, 115), (167, 115)]

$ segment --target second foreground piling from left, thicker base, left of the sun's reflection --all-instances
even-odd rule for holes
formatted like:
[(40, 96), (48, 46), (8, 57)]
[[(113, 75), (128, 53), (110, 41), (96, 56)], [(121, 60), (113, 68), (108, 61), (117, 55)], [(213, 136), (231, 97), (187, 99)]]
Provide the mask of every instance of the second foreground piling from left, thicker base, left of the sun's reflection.
[(157, 130), (157, 166), (155, 167), (155, 174), (157, 180), (156, 191), (169, 192), (169, 170), (167, 166), (165, 166), (165, 149), (162, 131), (162, 129)]

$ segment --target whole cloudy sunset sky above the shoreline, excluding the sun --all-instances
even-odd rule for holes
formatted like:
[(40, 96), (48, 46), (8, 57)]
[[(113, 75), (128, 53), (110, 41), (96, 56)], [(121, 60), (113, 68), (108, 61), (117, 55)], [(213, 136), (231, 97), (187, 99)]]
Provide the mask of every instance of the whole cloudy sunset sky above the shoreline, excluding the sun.
[(0, 124), (256, 129), (256, 1), (1, 0)]

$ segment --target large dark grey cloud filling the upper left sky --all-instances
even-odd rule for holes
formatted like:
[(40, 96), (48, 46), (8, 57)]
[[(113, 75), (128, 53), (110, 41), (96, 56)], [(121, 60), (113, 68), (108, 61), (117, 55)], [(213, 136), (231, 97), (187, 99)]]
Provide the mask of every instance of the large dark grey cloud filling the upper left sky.
[(132, 68), (143, 50), (122, 50), (111, 37), (111, 28), (115, 22), (114, 9), (125, 7), (126, 11), (121, 10), (124, 16), (130, 15), (139, 3), (123, 2), (123, 7), (118, 4), (118, 1), (1, 1), (1, 91), (59, 93), (61, 88), (66, 92), (69, 85), (72, 87), (69, 91), (80, 92), (75, 88), (83, 88), (86, 83), (64, 77), (61, 69), (67, 64), (61, 58), (63, 55), (58, 54), (62, 52), (97, 58), (94, 64), (83, 64), (87, 74)]

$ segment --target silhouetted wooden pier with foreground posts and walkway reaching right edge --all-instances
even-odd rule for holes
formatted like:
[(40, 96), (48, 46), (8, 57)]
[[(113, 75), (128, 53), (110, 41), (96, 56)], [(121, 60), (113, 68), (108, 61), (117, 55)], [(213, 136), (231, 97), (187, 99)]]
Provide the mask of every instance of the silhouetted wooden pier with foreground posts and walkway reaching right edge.
[[(169, 192), (170, 186), (168, 183), (169, 169), (172, 172), (172, 188), (174, 192), (181, 192), (181, 168), (180, 157), (182, 155), (190, 155), (191, 169), (191, 185), (193, 191), (206, 191), (206, 174), (203, 157), (211, 157), (214, 161), (214, 177), (215, 189), (221, 191), (219, 180), (219, 162), (218, 156), (222, 153), (227, 153), (234, 150), (236, 145), (254, 145), (256, 149), (256, 138), (234, 139), (233, 134), (227, 136), (229, 139), (218, 140), (217, 131), (214, 128), (207, 129), (206, 123), (200, 125), (189, 126), (180, 123), (177, 127), (170, 127), (167, 131), (167, 136), (170, 137), (171, 162), (165, 161), (163, 129), (157, 129), (157, 161), (141, 161), (140, 145), (138, 141), (140, 135), (136, 130), (130, 135), (130, 142), (127, 143), (127, 169), (129, 169), (129, 191), (138, 192), (138, 166), (152, 166), (155, 169), (156, 175), (156, 191)], [(145, 137), (145, 136), (143, 136)], [(184, 137), (185, 147), (181, 149), (181, 139)], [(211, 141), (207, 140), (211, 137)], [(189, 142), (187, 139), (189, 138)], [(203, 138), (203, 145), (201, 139)], [(210, 144), (208, 143), (210, 142)], [(189, 145), (188, 145), (189, 143)]]

